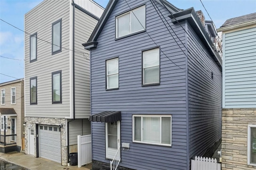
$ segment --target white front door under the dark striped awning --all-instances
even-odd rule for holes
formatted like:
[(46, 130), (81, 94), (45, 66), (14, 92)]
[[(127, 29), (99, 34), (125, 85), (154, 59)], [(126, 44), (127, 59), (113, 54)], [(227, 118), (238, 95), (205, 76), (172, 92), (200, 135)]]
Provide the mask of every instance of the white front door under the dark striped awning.
[[(106, 158), (113, 159), (120, 146), (120, 121), (105, 123), (106, 130)], [(120, 150), (117, 158), (120, 158)]]

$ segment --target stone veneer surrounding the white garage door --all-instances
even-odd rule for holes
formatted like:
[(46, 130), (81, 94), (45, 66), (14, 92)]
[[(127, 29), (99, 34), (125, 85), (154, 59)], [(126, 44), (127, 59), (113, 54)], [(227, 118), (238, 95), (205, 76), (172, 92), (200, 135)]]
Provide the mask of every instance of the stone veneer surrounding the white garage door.
[(35, 153), (34, 156), (36, 156), (36, 124), (41, 125), (63, 125), (61, 128), (61, 164), (63, 166), (68, 165), (68, 150), (66, 146), (66, 119), (58, 119), (58, 118), (41, 118), (41, 117), (25, 117), (25, 153), (28, 153), (28, 128), (34, 128), (35, 132), (35, 140), (34, 140), (34, 148)]

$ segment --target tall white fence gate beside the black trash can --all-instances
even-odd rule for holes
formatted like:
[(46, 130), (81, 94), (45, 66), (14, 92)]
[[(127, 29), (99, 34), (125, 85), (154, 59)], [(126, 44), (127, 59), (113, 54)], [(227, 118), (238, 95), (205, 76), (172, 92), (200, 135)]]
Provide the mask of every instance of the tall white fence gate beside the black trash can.
[(77, 136), (78, 168), (92, 162), (92, 135)]

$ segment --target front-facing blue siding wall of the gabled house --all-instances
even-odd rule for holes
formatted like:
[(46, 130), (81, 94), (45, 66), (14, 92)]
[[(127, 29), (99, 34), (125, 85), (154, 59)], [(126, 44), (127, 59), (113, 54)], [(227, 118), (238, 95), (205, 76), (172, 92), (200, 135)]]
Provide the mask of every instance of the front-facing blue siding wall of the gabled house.
[[(186, 67), (185, 51), (174, 41), (150, 1), (127, 0), (131, 8), (146, 4), (146, 31), (161, 50), (181, 68)], [(170, 22), (169, 13), (159, 4), (164, 17), (185, 43), (184, 30)], [(121, 143), (130, 143), (130, 150), (121, 150), (120, 166), (133, 169), (187, 169), (186, 72), (160, 53), (160, 85), (141, 85), (141, 51), (157, 45), (146, 32), (115, 40), (115, 16), (129, 10), (125, 1), (118, 1), (97, 42), (91, 50), (92, 115), (103, 111), (121, 111)], [(184, 23), (181, 23), (184, 26)], [(172, 32), (172, 30), (171, 30)], [(119, 89), (105, 90), (105, 60), (119, 57)], [(172, 115), (172, 146), (132, 143), (133, 114)], [(105, 125), (92, 123), (93, 160), (105, 159)], [(140, 167), (140, 168), (138, 168)]]

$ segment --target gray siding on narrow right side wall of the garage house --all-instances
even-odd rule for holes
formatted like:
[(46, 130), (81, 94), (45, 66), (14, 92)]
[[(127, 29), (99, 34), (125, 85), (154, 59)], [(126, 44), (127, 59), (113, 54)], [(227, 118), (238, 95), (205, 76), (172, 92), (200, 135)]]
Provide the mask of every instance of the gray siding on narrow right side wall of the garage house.
[[(75, 71), (75, 115), (76, 119), (89, 118), (90, 112), (90, 55), (82, 43), (86, 42), (97, 24), (97, 20), (75, 8), (74, 71)], [(80, 53), (79, 51), (84, 52)]]

